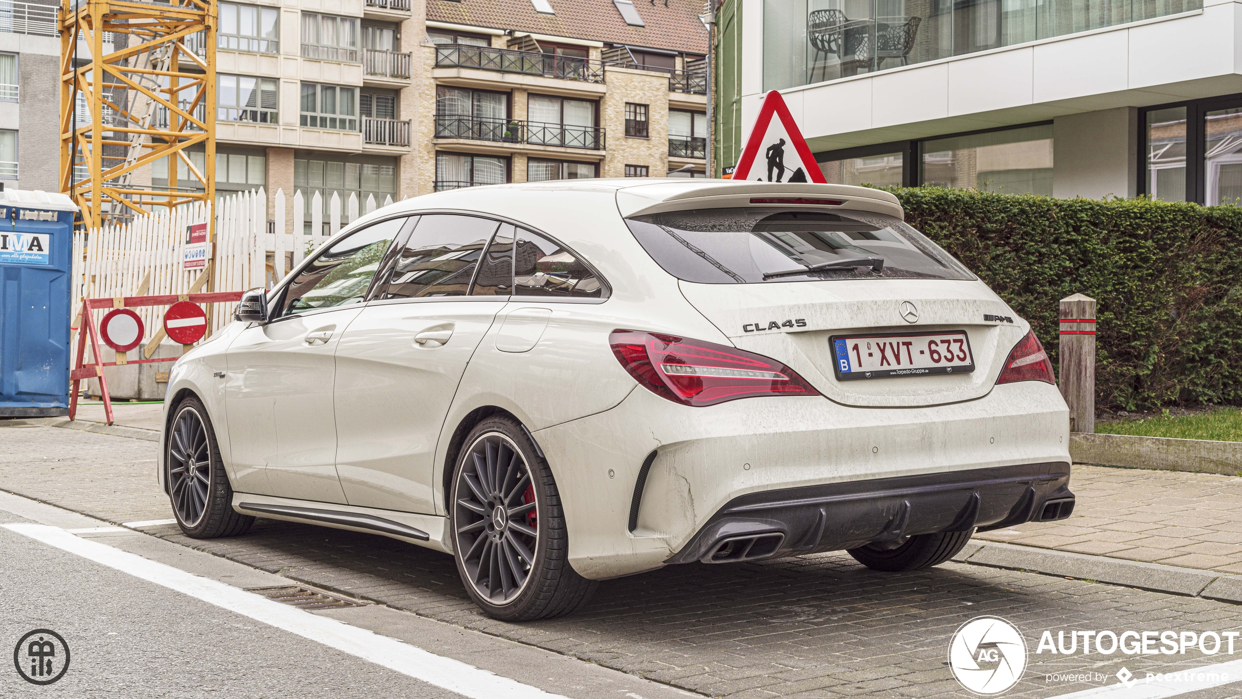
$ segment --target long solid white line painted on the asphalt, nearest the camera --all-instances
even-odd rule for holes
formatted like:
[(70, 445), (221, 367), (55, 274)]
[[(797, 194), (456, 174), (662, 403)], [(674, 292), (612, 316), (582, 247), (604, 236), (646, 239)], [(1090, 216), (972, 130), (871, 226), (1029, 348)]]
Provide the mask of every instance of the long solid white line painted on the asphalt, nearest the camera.
[(25, 523), (0, 526), (471, 699), (566, 699), (396, 638), (273, 602), (97, 540), (75, 536), (58, 526)]

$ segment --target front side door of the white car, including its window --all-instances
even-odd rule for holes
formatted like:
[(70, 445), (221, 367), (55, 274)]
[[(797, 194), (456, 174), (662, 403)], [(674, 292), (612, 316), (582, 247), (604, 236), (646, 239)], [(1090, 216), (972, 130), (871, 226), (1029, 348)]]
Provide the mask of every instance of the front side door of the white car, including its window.
[[(334, 353), (405, 222), (381, 221), (320, 251), (276, 295), (272, 319), (229, 348), (230, 454), (251, 492), (345, 503), (335, 467)], [(258, 469), (266, 478), (255, 477)]]

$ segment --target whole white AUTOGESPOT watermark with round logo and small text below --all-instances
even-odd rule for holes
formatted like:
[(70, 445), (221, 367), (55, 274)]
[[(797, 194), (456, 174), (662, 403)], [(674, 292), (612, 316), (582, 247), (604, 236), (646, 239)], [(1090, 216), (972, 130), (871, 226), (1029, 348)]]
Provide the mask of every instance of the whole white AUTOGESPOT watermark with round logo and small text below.
[[(1045, 631), (1035, 648), (1036, 661), (1051, 662), (1053, 657), (1067, 656), (1117, 656), (1143, 658), (1144, 656), (1232, 656), (1235, 647), (1242, 651), (1238, 631)], [(1043, 658), (1038, 658), (1043, 656)], [(949, 668), (964, 689), (972, 694), (991, 697), (1009, 692), (1022, 679), (1028, 662), (1028, 651), (1022, 632), (1000, 617), (975, 617), (958, 627), (949, 641)], [(1165, 673), (1144, 672), (1135, 675), (1122, 668), (1115, 677), (1119, 684), (1131, 688), (1140, 683), (1210, 683), (1225, 684), (1233, 678), (1218, 668), (1187, 668)], [(1046, 673), (1045, 683), (1090, 682), (1109, 684), (1108, 673), (1090, 669), (1058, 670)]]

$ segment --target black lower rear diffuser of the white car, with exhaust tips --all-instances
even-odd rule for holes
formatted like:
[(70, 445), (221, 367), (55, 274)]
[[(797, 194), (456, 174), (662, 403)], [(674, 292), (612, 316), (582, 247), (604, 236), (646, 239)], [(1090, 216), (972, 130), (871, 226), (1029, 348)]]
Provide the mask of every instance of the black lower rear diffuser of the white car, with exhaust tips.
[(764, 490), (730, 500), (664, 562), (758, 560), (1053, 521), (1073, 505), (1066, 462)]

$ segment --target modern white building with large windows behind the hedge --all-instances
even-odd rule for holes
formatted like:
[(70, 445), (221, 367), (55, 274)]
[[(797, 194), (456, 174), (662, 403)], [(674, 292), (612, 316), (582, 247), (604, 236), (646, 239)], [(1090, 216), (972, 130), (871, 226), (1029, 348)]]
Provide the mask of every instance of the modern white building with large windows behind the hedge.
[(727, 0), (719, 154), (779, 89), (828, 181), (1242, 197), (1242, 4)]

